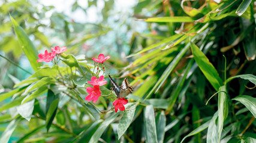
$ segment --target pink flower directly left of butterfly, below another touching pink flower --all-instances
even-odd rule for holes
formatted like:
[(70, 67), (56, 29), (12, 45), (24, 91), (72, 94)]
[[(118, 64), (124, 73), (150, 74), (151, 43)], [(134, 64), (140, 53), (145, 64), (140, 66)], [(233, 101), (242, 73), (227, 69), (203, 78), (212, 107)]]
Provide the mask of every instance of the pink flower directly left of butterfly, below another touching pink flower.
[(101, 89), (98, 85), (95, 85), (94, 88), (88, 87), (86, 88), (86, 91), (88, 92), (89, 95), (86, 96), (85, 100), (87, 101), (92, 101), (97, 102), (98, 98), (101, 95)]

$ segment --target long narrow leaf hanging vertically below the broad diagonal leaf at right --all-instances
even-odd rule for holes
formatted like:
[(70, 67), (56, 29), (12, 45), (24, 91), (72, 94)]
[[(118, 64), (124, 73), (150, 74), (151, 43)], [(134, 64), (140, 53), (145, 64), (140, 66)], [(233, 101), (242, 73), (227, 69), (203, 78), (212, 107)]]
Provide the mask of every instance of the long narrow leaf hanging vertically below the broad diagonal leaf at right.
[(224, 91), (224, 92), (219, 92), (218, 94), (218, 133), (219, 133), (219, 138), (218, 142), (221, 140), (221, 132), (223, 129), (224, 125), (224, 120), (228, 116), (228, 96), (227, 96), (227, 88), (225, 85), (221, 86), (219, 88), (219, 91)]

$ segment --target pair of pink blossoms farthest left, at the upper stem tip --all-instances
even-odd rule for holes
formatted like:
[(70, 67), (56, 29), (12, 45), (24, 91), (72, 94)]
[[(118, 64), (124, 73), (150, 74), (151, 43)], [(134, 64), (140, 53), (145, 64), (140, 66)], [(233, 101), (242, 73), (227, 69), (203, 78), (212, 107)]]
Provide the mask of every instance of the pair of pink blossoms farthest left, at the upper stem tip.
[(62, 52), (67, 51), (67, 48), (64, 46), (60, 48), (59, 46), (55, 46), (55, 48), (51, 48), (52, 52), (48, 52), (47, 50), (43, 53), (38, 54), (39, 59), (37, 62), (49, 62), (52, 61), (56, 54), (61, 54)]

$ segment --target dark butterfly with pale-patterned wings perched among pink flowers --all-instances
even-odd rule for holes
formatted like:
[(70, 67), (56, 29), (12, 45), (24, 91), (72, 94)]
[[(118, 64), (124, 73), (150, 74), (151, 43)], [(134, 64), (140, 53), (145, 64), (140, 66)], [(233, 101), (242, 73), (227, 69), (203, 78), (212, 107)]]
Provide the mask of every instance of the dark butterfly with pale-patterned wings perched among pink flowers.
[(133, 87), (131, 85), (129, 85), (129, 81), (127, 78), (125, 78), (122, 82), (121, 86), (118, 86), (115, 82), (115, 80), (113, 80), (110, 75), (109, 75), (109, 79), (110, 82), (112, 83), (113, 89), (116, 93), (116, 96), (118, 98), (122, 98), (122, 97), (127, 97), (127, 95), (131, 94), (131, 92), (133, 91)]

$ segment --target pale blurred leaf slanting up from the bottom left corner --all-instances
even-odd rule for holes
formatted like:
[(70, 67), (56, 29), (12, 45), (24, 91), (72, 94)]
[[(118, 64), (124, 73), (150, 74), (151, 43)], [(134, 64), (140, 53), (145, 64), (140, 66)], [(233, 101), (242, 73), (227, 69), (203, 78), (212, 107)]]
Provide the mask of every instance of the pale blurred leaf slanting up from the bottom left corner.
[(20, 119), (14, 119), (9, 123), (9, 125), (7, 126), (7, 128), (4, 130), (4, 132), (1, 135), (1, 138), (0, 138), (1, 143), (9, 142), (11, 134), (13, 133), (14, 129), (16, 128), (16, 126), (19, 122), (20, 122)]

